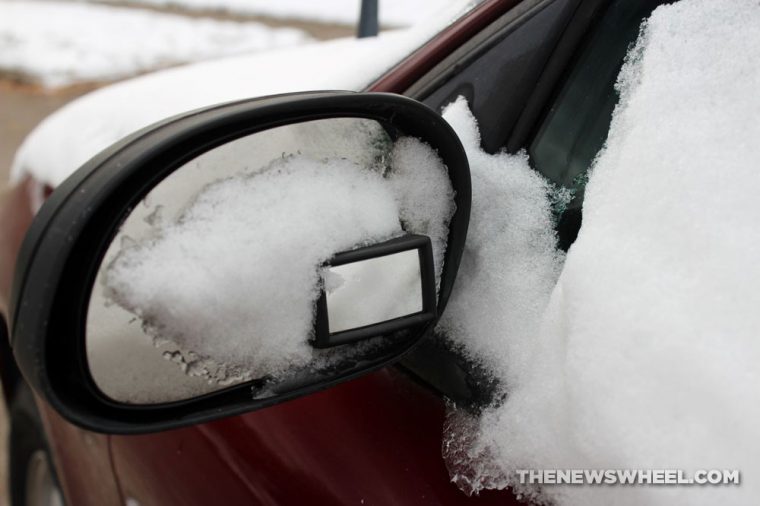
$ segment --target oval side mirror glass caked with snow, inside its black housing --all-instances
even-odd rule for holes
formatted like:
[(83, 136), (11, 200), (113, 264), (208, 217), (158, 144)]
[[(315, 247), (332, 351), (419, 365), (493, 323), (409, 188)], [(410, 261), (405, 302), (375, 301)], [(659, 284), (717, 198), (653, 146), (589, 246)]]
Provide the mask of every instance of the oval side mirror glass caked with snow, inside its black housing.
[[(419, 318), (426, 290), (434, 308), (454, 211), (435, 151), (370, 120), (289, 125), (208, 151), (153, 188), (107, 249), (88, 308), (91, 375), (118, 402), (152, 404), (251, 380), (266, 391), (381, 353), (391, 337), (317, 346), (319, 304), (338, 334)], [(428, 253), (328, 267), (409, 237)]]

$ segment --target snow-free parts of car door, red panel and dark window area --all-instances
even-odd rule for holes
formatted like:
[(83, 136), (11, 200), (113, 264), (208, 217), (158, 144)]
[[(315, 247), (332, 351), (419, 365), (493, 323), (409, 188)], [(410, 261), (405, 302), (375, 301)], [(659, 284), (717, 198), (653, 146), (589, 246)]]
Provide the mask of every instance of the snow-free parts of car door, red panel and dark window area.
[[(568, 248), (585, 170), (606, 138), (615, 76), (657, 3), (526, 1), (450, 47), (411, 86), (394, 88), (410, 83), (391, 75), (373, 89), (435, 108), (464, 95), (486, 151), (526, 148), (536, 170), (575, 190), (557, 220)], [(112, 436), (122, 494), (143, 505), (514, 503), (508, 491), (468, 497), (449, 480), (446, 399), (482, 405), (493, 385), (444, 343), (430, 339), (398, 366), (254, 413)]]

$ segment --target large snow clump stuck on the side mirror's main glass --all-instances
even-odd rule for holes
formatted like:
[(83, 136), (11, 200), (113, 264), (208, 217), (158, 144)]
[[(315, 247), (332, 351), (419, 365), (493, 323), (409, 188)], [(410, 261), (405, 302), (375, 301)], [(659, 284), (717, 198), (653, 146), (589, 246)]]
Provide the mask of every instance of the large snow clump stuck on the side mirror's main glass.
[(319, 265), (402, 233), (377, 172), (289, 156), (205, 188), (108, 267), (110, 296), (151, 333), (258, 377), (306, 365)]

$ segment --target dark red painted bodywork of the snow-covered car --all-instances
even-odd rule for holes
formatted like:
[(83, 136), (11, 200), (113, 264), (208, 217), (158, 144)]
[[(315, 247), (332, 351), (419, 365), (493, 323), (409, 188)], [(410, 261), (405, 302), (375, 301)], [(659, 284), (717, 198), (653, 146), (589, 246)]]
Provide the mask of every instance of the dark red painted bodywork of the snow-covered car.
[[(517, 3), (484, 2), (370, 90), (402, 93)], [(6, 321), (16, 255), (33, 218), (32, 184), (16, 184), (0, 201)], [(3, 369), (6, 400), (11, 374)], [(83, 431), (38, 406), (69, 505), (516, 502), (509, 492), (468, 497), (451, 483), (441, 456), (445, 401), (394, 367), (257, 412), (141, 436)]]

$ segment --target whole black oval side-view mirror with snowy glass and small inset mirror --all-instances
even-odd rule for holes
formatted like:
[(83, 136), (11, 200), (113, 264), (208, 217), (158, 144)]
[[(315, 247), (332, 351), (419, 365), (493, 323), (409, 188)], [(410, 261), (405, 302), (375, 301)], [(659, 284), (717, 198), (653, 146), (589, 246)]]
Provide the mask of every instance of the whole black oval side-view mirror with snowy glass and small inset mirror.
[(470, 213), (451, 127), (392, 94), (170, 118), (57, 188), (19, 253), (12, 346), (66, 419), (144, 433), (398, 360), (445, 309)]

